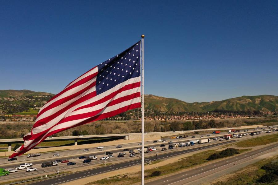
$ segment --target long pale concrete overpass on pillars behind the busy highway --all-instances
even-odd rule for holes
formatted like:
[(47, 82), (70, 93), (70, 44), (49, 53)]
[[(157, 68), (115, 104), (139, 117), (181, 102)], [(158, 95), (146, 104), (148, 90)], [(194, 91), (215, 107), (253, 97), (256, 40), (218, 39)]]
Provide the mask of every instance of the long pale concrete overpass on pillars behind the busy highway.
[[(228, 130), (228, 129), (251, 129), (256, 127), (263, 127), (263, 125), (251, 125), (251, 126), (241, 126), (241, 127), (225, 127), (225, 128), (211, 128), (211, 129), (199, 129), (199, 130), (191, 130), (191, 131), (169, 131), (169, 132), (150, 132), (145, 133), (145, 138), (157, 138), (157, 137), (166, 137), (172, 135), (183, 135), (189, 132), (194, 131), (215, 131), (215, 130)], [(77, 140), (87, 140), (87, 139), (104, 139), (104, 138), (118, 138), (125, 140), (132, 139), (141, 139), (141, 133), (125, 133), (125, 134), (106, 134), (106, 135), (84, 135), (84, 137), (79, 136), (63, 136), (63, 137), (53, 137), (52, 139), (45, 139), (44, 142), (49, 141), (65, 141), (65, 140), (73, 140), (75, 141), (75, 145), (77, 145)], [(23, 143), (22, 138), (16, 139), (0, 139), (0, 144), (8, 144), (8, 151), (11, 151), (12, 143)]]

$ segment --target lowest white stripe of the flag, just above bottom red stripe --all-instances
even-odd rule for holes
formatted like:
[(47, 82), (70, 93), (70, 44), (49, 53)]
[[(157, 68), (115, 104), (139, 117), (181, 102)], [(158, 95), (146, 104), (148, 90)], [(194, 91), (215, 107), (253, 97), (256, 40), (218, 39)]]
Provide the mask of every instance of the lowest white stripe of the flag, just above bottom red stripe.
[[(111, 112), (111, 111), (115, 111), (121, 107), (125, 107), (127, 105), (130, 105), (130, 104), (133, 104), (133, 103), (140, 103), (141, 102), (141, 97), (137, 97), (137, 98), (134, 98), (134, 99), (131, 99), (131, 100), (128, 100), (128, 101), (125, 101), (125, 102), (121, 102), (121, 103), (118, 103), (118, 104), (115, 104), (115, 105), (112, 105), (110, 107), (105, 107), (100, 113), (96, 114), (96, 115), (100, 115), (100, 114), (104, 114), (104, 113), (108, 113), (108, 112)], [(94, 115), (94, 116), (96, 116)], [(93, 116), (92, 116), (93, 117)], [(91, 117), (89, 117), (91, 118)], [(72, 120), (72, 121), (68, 121), (68, 122), (65, 122), (65, 123), (61, 123), (59, 125), (56, 125), (55, 127), (51, 128), (46, 134), (44, 135), (47, 135), (49, 132), (51, 131), (55, 131), (55, 130), (58, 130), (58, 129), (62, 129), (62, 128), (68, 128), (68, 127), (72, 127), (86, 119), (89, 119), (89, 118), (84, 118), (84, 119), (76, 119), (76, 120)], [(43, 138), (42, 138), (43, 139)], [(27, 149), (29, 148), (32, 148), (33, 146), (35, 146), (37, 143), (39, 143), (42, 139), (40, 139), (39, 141), (31, 144)], [(24, 146), (25, 147), (25, 146)], [(27, 147), (27, 146), (26, 146)]]

